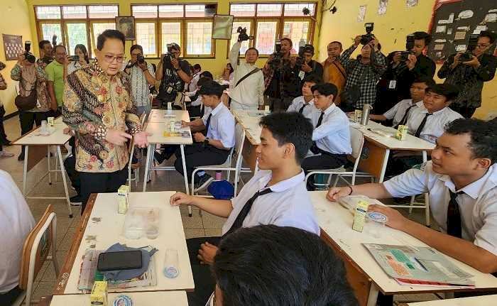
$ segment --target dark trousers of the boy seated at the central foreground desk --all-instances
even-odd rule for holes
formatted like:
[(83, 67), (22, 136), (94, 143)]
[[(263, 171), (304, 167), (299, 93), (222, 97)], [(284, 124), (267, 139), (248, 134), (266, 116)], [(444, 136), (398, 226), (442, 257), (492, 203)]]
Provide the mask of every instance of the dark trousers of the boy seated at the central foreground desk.
[(197, 258), (200, 244), (205, 241), (214, 246), (219, 246), (221, 237), (200, 237), (187, 239), (188, 254), (190, 255), (190, 264), (192, 265), (193, 281), (195, 283), (195, 291), (187, 293), (188, 305), (190, 306), (205, 306), (207, 299), (214, 292), (216, 281), (212, 277), (209, 265), (202, 265)]

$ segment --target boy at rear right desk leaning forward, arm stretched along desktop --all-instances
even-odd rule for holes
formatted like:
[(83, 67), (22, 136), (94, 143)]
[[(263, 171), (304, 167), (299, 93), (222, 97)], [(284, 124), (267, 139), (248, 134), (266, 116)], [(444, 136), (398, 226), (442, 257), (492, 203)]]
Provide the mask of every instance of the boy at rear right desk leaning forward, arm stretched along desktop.
[(425, 98), (425, 90), (428, 87), (435, 85), (433, 79), (417, 79), (410, 86), (410, 97), (411, 99), (403, 99), (393, 106), (391, 109), (386, 111), (383, 115), (369, 115), (369, 119), (374, 121), (390, 121), (392, 120), (392, 126), (397, 129), (399, 125), (405, 124), (408, 119), (408, 114), (411, 109), (417, 107), (418, 102), (422, 102)]

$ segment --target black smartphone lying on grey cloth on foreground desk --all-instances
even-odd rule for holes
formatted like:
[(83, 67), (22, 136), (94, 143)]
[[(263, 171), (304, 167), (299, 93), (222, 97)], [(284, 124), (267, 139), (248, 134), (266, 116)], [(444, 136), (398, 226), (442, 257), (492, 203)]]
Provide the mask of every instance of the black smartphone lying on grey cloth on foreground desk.
[(98, 271), (132, 270), (142, 266), (141, 251), (120, 251), (100, 253)]

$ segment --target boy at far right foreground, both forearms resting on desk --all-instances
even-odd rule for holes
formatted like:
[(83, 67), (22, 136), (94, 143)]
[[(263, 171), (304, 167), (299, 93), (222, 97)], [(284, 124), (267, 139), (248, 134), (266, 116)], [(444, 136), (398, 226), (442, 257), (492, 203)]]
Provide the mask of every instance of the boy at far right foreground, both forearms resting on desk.
[(430, 193), (430, 210), (442, 229), (435, 231), (390, 207), (370, 210), (388, 217), (387, 226), (405, 231), (438, 251), (483, 273), (497, 272), (497, 126), (477, 119), (447, 125), (432, 160), (381, 184), (333, 187), (327, 198), (346, 195), (374, 199)]

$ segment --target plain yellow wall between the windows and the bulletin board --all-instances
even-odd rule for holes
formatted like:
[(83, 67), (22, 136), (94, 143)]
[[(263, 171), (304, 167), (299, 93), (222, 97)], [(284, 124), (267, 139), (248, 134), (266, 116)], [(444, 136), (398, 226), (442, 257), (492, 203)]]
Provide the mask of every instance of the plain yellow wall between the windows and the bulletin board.
[[(467, 1), (467, 0), (466, 0)], [(328, 1), (329, 2), (329, 1)], [(405, 49), (405, 36), (414, 31), (428, 31), (435, 0), (419, 0), (417, 6), (408, 8), (405, 0), (390, 0), (386, 14), (378, 16), (378, 0), (337, 1), (337, 13), (325, 11), (322, 14), (322, 34), (319, 42), (320, 60), (327, 57), (327, 44), (339, 40), (348, 48), (356, 35), (366, 33), (364, 23), (374, 22), (373, 33), (381, 43), (385, 54), (393, 50)], [(478, 1), (474, 1), (475, 5)], [(358, 22), (359, 6), (367, 5), (364, 21)], [(359, 54), (356, 51), (356, 54)], [(355, 56), (355, 55), (354, 55)], [(440, 65), (437, 65), (439, 68)], [(441, 80), (435, 78), (437, 82)], [(486, 82), (483, 91), (483, 103), (474, 115), (479, 119), (491, 119), (497, 116), (497, 78)]]

